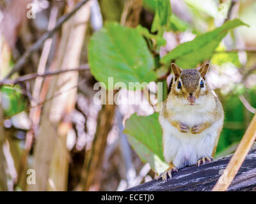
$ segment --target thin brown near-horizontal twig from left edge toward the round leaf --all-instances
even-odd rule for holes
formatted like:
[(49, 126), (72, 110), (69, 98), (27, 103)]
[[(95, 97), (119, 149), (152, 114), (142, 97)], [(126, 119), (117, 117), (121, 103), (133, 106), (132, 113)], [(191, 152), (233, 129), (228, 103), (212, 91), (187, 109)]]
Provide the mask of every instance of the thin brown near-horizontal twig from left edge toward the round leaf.
[(19, 78), (16, 78), (15, 80), (10, 80), (10, 79), (4, 79), (0, 81), (0, 87), (2, 85), (14, 85), (14, 84), (19, 84), (20, 82), (27, 82), (29, 80), (33, 80), (36, 77), (50, 77), (53, 75), (59, 75), (61, 73), (65, 73), (67, 71), (86, 71), (89, 70), (89, 65), (88, 64), (83, 64), (79, 66), (78, 68), (73, 68), (73, 69), (63, 69), (60, 71), (52, 71), (52, 72), (45, 72), (44, 74), (39, 74), (39, 73), (32, 73), (29, 75), (24, 75)]

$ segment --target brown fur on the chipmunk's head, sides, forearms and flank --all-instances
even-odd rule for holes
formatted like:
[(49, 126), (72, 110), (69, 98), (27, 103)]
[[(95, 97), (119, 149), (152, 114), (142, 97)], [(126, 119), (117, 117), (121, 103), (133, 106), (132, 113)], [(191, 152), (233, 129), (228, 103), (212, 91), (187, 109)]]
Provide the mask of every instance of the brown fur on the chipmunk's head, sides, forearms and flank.
[[(184, 98), (187, 99), (188, 96), (193, 94), (196, 98), (199, 98), (199, 96), (207, 96), (207, 101), (205, 103), (209, 103), (211, 100), (212, 103), (212, 111), (211, 112), (205, 112), (205, 114), (211, 115), (211, 121), (207, 121), (202, 124), (198, 124), (191, 129), (188, 129), (188, 131), (191, 131), (193, 134), (202, 133), (205, 129), (209, 128), (216, 122), (217, 120), (223, 119), (223, 108), (221, 106), (220, 100), (218, 97), (214, 96), (214, 94), (211, 92), (211, 89), (207, 85), (207, 81), (205, 80), (205, 75), (209, 69), (209, 64), (205, 64), (205, 66), (202, 66), (200, 69), (180, 69), (179, 66), (176, 64), (172, 64), (172, 70), (175, 75), (174, 80), (172, 80), (170, 93), (168, 95), (168, 100), (172, 100), (173, 98)], [(202, 91), (200, 89), (200, 77), (203, 78), (204, 85), (205, 85), (205, 91)], [(176, 91), (177, 83), (181, 82), (182, 88), (179, 92)], [(163, 109), (162, 113), (163, 116), (169, 120), (170, 124), (174, 126), (175, 128), (179, 129), (180, 132), (185, 133), (186, 125), (182, 124), (180, 121), (172, 120), (172, 115), (175, 114), (170, 110), (167, 110), (166, 108), (166, 101), (163, 102)], [(216, 143), (214, 145), (214, 150), (212, 151), (212, 156), (214, 156), (216, 152), (216, 147), (218, 145), (218, 140), (220, 137), (221, 129), (218, 129), (218, 138), (216, 139)]]

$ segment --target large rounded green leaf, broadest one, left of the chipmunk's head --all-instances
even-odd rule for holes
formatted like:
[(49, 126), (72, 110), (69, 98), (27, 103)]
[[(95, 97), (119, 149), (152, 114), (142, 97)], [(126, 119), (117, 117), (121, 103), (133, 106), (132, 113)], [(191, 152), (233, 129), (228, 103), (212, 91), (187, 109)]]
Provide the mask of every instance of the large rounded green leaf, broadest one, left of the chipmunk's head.
[(151, 82), (156, 79), (153, 57), (147, 43), (136, 29), (118, 23), (107, 23), (93, 34), (88, 47), (92, 75), (106, 84), (108, 77), (116, 82)]

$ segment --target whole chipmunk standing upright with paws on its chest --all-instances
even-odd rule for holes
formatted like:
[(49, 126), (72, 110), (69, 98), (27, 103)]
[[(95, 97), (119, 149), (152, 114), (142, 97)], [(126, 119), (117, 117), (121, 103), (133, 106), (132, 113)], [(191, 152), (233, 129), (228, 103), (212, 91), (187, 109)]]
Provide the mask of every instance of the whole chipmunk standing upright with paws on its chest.
[(196, 69), (181, 69), (174, 63), (171, 67), (172, 87), (159, 113), (169, 168), (157, 179), (165, 181), (184, 166), (213, 160), (224, 119), (220, 100), (207, 84), (209, 64)]

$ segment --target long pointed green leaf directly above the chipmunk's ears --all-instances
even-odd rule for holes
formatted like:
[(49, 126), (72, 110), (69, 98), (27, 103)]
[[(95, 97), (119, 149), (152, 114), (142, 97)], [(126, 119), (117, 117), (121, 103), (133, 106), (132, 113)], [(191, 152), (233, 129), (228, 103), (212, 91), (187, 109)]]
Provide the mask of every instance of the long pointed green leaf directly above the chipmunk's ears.
[(210, 59), (221, 39), (226, 36), (230, 29), (239, 25), (246, 25), (239, 19), (234, 19), (216, 28), (214, 31), (200, 34), (192, 41), (182, 43), (166, 54), (161, 62), (168, 64), (175, 60), (175, 63), (182, 68), (193, 68), (198, 63)]

